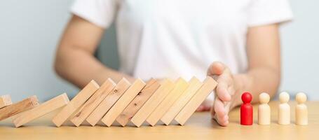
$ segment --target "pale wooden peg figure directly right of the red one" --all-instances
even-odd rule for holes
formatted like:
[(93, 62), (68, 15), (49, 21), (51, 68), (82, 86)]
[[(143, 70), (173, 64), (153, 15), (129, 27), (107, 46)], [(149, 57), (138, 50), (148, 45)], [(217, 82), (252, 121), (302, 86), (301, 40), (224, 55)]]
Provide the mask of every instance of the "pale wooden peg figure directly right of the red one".
[(259, 94), (259, 106), (258, 106), (258, 124), (259, 125), (270, 125), (271, 109), (268, 105), (269, 94), (262, 93)]

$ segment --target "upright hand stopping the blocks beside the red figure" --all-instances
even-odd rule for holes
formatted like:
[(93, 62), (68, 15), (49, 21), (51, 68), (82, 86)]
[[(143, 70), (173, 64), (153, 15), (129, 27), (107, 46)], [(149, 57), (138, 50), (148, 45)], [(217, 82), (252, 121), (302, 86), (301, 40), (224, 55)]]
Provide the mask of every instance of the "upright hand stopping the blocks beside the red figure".
[(229, 124), (229, 111), (240, 104), (238, 80), (222, 62), (212, 63), (208, 69), (208, 76), (212, 76), (218, 83), (215, 102), (210, 109), (212, 118), (219, 125), (226, 126)]

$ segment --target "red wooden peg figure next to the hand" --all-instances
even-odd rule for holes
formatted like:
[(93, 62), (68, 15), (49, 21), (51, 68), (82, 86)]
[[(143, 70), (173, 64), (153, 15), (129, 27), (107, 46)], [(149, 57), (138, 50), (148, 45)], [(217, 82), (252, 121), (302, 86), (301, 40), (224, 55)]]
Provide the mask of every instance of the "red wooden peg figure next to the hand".
[(240, 106), (240, 125), (252, 125), (252, 94), (244, 92), (241, 95), (243, 104)]

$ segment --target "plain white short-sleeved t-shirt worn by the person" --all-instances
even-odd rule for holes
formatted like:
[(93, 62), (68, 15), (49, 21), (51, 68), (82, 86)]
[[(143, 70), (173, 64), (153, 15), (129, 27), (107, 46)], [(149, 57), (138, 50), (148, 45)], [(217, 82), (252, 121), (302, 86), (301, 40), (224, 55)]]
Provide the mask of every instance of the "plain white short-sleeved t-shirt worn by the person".
[(120, 70), (144, 80), (203, 80), (215, 61), (243, 73), (247, 28), (292, 19), (287, 0), (76, 0), (72, 13), (116, 22)]

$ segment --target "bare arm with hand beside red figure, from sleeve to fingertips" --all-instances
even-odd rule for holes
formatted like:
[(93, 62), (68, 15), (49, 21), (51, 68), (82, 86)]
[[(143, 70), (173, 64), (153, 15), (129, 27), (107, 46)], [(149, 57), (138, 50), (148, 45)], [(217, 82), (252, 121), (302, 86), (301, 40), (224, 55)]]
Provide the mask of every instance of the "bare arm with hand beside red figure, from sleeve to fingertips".
[(241, 95), (252, 93), (252, 103), (259, 100), (259, 94), (276, 94), (280, 83), (280, 42), (278, 25), (250, 27), (247, 31), (247, 72), (233, 74), (225, 64), (214, 62), (208, 69), (208, 76), (218, 82), (212, 116), (226, 126), (228, 113), (235, 106), (243, 104)]

